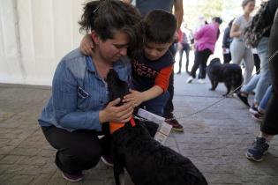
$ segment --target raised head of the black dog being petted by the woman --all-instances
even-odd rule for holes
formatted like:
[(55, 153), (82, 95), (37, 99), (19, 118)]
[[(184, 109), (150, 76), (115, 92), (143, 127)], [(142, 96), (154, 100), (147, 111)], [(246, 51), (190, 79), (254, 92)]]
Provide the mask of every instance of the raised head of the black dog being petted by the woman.
[[(109, 70), (107, 84), (109, 91), (109, 101), (116, 100), (117, 98), (121, 98), (121, 100), (123, 100), (124, 95), (129, 93), (129, 87), (127, 83), (119, 78), (116, 70)], [(123, 103), (121, 102), (120, 104), (122, 105)]]

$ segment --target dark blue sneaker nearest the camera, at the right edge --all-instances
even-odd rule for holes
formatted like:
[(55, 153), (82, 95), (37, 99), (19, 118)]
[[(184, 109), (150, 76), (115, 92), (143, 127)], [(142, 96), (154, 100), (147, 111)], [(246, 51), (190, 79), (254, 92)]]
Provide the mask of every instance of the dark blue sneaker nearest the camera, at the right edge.
[(266, 138), (256, 137), (254, 143), (252, 144), (252, 148), (248, 149), (246, 152), (246, 158), (259, 162), (267, 153), (268, 148), (269, 144), (267, 144)]

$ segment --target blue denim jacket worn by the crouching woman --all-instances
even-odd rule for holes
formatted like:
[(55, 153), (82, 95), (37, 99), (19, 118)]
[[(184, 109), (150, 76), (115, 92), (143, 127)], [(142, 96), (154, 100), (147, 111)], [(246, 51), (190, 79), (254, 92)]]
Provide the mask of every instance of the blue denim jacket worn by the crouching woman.
[[(127, 58), (120, 58), (113, 68), (119, 78), (130, 82), (131, 65)], [(75, 49), (56, 68), (52, 96), (43, 107), (39, 123), (69, 131), (101, 131), (99, 112), (108, 101), (107, 85), (97, 74), (92, 58)]]

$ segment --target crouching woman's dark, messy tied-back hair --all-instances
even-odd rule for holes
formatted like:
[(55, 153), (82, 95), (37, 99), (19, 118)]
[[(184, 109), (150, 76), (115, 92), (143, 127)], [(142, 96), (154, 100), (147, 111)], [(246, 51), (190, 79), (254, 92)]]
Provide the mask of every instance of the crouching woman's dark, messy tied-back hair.
[(116, 31), (127, 33), (130, 37), (129, 50), (137, 48), (139, 11), (130, 4), (117, 0), (91, 1), (85, 4), (84, 13), (79, 20), (79, 32), (94, 30), (102, 41), (113, 39)]

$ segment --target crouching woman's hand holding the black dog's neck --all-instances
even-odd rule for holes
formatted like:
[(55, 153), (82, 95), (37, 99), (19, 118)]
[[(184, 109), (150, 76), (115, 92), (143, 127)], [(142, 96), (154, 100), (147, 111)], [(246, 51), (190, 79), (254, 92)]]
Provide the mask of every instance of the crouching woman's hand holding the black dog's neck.
[(116, 107), (120, 101), (120, 98), (113, 100), (100, 111), (100, 122), (129, 122), (131, 120), (133, 113), (132, 103), (124, 103), (124, 105)]

